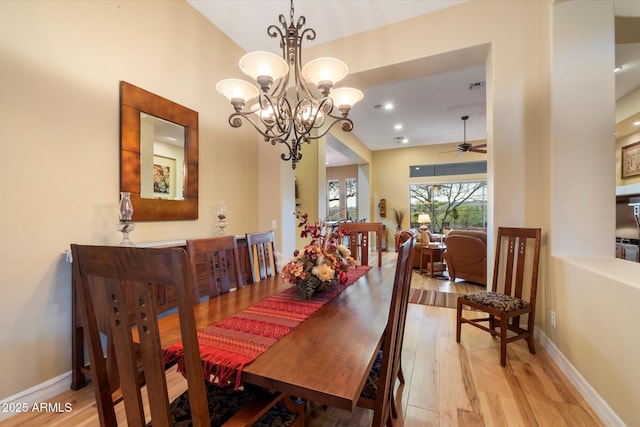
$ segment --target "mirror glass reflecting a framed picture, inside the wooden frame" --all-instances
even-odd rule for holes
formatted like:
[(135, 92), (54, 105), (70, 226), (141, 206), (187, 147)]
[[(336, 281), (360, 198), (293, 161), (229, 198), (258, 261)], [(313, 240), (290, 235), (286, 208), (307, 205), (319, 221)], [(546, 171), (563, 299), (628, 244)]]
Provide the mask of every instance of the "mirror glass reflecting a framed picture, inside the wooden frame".
[(184, 200), (184, 126), (140, 113), (140, 197)]

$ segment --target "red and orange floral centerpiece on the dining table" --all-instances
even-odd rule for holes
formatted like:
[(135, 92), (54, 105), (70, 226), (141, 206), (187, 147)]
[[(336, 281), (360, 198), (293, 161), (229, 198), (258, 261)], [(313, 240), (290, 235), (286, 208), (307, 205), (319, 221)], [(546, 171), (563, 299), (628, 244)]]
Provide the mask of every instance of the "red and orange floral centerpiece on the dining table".
[(355, 266), (349, 249), (339, 244), (342, 233), (325, 227), (325, 222), (310, 224), (309, 216), (296, 212), (300, 237), (311, 238), (307, 246), (293, 253), (293, 259), (282, 267), (282, 278), (298, 289), (301, 298), (347, 282), (347, 269)]

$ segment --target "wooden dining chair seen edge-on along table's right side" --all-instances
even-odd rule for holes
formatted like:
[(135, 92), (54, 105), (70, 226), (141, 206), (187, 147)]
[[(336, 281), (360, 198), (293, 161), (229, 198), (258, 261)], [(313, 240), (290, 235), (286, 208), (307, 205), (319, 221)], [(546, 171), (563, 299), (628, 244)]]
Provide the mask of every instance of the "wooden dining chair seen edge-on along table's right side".
[(393, 420), (399, 415), (394, 391), (400, 371), (415, 245), (415, 234), (409, 234), (409, 237), (399, 246), (393, 294), (382, 349), (378, 352), (357, 403), (360, 407), (373, 409), (372, 426), (374, 427), (392, 426)]

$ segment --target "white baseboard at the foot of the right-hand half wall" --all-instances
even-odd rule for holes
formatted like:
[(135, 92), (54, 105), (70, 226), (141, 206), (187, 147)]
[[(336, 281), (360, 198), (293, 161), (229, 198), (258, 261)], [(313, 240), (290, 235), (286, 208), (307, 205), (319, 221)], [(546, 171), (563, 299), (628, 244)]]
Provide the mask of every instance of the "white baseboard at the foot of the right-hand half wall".
[(591, 409), (600, 417), (604, 425), (608, 427), (627, 427), (627, 425), (618, 417), (605, 400), (596, 392), (591, 384), (589, 384), (580, 372), (569, 362), (569, 360), (558, 350), (558, 347), (551, 341), (547, 335), (535, 328), (535, 336), (538, 342), (546, 350), (547, 354), (558, 365), (558, 368), (569, 379), (571, 384), (578, 390), (583, 399), (591, 406)]

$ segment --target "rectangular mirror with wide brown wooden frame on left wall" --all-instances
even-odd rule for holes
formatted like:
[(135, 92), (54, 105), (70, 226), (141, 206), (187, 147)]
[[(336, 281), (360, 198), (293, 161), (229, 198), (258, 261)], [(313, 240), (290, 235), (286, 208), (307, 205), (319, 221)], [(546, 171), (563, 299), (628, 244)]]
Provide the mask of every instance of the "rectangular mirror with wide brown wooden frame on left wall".
[(120, 82), (120, 191), (133, 221), (198, 219), (198, 112)]

